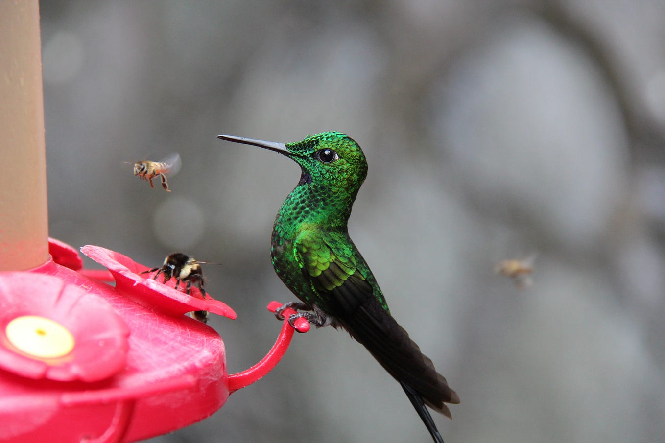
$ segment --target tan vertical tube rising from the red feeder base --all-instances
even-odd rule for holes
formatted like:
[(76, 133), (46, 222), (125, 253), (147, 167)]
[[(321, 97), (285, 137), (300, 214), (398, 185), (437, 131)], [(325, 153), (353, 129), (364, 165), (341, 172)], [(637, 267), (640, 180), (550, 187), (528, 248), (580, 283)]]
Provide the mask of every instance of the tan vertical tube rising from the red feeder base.
[(37, 0), (0, 0), (0, 271), (49, 258)]

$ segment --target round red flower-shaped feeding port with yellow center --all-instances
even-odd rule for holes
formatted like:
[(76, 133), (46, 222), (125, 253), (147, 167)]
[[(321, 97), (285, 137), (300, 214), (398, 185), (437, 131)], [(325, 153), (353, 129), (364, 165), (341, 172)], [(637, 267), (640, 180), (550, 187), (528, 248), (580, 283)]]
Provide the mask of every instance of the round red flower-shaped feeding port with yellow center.
[(0, 275), (0, 367), (30, 378), (104, 380), (125, 365), (129, 329), (94, 294), (49, 275)]

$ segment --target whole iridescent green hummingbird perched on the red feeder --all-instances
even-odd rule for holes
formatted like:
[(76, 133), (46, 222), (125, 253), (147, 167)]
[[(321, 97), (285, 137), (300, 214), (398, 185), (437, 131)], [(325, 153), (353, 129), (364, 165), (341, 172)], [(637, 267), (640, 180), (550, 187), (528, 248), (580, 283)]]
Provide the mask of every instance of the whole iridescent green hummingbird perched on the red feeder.
[(392, 317), (372, 271), (348, 235), (351, 208), (367, 176), (360, 146), (341, 132), (287, 144), (218, 137), (279, 152), (301, 167), (298, 184), (277, 213), (271, 238), (275, 272), (301, 300), (284, 305), (283, 309), (299, 311), (289, 323), (293, 326), (295, 319), (305, 317), (316, 327), (348, 331), (402, 385), (434, 441), (443, 443), (425, 405), (452, 418), (446, 403), (458, 404), (460, 398)]

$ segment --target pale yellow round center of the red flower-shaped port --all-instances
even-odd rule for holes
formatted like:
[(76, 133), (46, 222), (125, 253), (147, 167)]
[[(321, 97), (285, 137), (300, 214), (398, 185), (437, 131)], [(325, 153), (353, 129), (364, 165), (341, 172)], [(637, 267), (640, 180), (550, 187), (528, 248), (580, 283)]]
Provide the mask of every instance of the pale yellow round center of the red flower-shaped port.
[(38, 315), (13, 319), (5, 334), (21, 352), (41, 359), (63, 357), (74, 349), (74, 336), (63, 325)]

